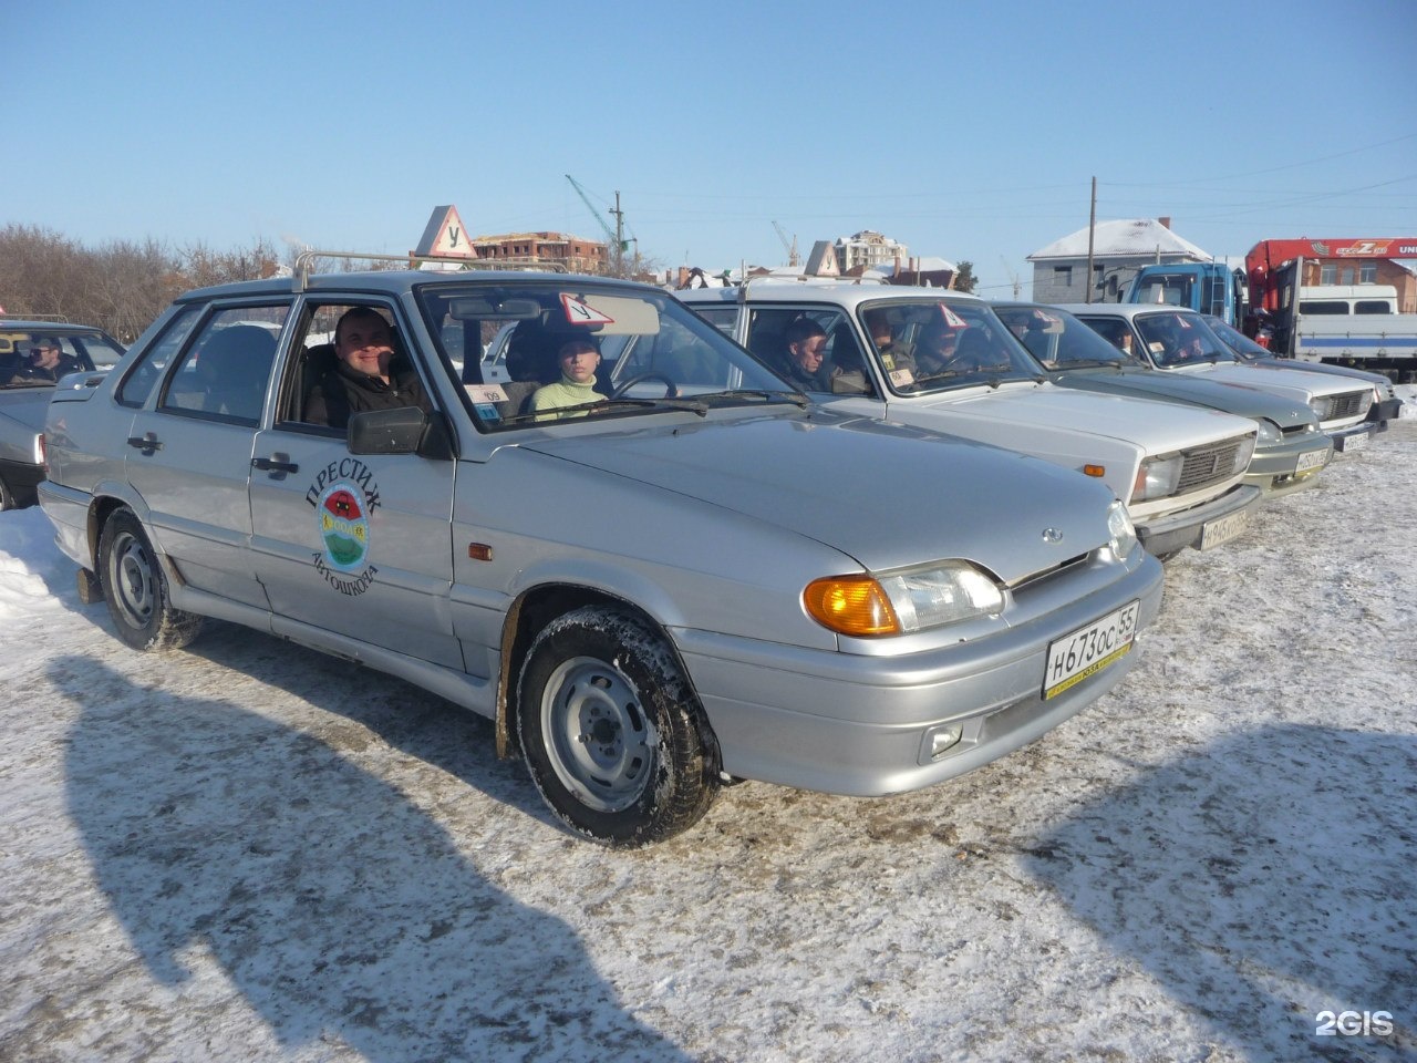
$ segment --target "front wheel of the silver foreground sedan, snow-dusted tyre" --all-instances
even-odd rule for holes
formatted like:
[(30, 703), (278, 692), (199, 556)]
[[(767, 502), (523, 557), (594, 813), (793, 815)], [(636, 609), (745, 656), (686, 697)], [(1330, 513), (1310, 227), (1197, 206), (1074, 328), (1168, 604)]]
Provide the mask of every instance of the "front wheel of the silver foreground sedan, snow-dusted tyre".
[(517, 683), (517, 733), (531, 780), (572, 829), (615, 848), (687, 831), (718, 775), (703, 709), (663, 635), (618, 608), (558, 617), (531, 643)]

